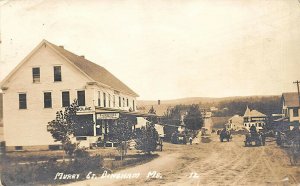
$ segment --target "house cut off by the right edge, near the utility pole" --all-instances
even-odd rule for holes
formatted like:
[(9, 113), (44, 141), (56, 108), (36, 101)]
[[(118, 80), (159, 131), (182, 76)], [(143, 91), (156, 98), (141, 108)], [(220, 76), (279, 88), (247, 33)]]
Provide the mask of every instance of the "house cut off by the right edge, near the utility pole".
[(282, 115), (289, 122), (299, 122), (299, 97), (297, 92), (283, 93), (281, 96)]

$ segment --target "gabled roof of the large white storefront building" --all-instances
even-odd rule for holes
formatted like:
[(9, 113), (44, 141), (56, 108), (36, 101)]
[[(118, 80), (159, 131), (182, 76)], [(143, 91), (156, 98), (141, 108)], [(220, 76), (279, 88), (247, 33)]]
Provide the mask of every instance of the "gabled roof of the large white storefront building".
[(82, 56), (78, 56), (63, 47), (59, 47), (49, 41), (43, 40), (2, 82), (1, 85), (6, 82), (9, 77), (21, 67), (21, 65), (33, 54), (35, 51), (42, 46), (43, 44), (49, 45), (52, 49), (54, 49), (59, 55), (64, 57), (68, 62), (72, 63), (76, 68), (78, 68), (82, 73), (87, 75), (91, 80), (98, 82), (99, 84), (104, 84), (112, 89), (133, 95), (138, 97), (139, 95), (135, 93), (132, 89), (130, 89), (127, 85), (125, 85), (122, 81), (120, 81), (117, 77), (111, 74), (108, 70), (99, 66)]

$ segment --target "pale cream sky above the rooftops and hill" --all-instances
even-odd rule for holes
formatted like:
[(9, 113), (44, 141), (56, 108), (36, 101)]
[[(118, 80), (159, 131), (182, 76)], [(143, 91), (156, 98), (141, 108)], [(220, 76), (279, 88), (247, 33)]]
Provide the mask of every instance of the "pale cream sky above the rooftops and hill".
[(280, 95), (300, 80), (298, 0), (0, 1), (0, 80), (43, 39), (139, 99)]

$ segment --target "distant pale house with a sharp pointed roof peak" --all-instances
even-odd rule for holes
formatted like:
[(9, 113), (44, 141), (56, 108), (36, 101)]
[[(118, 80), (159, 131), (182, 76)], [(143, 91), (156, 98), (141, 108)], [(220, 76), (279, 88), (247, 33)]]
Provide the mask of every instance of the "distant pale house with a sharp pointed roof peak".
[(243, 119), (246, 129), (249, 130), (251, 126), (255, 126), (259, 130), (266, 125), (267, 116), (257, 110), (250, 110), (247, 106)]

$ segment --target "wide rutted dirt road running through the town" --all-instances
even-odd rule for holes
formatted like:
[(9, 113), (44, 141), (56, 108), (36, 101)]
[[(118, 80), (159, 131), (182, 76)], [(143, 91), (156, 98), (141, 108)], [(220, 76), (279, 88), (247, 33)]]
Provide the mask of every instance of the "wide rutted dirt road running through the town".
[[(274, 141), (244, 147), (243, 136), (219, 142), (212, 134), (199, 145), (165, 144), (160, 157), (118, 173), (141, 173), (134, 179), (96, 179), (72, 185), (299, 185), (300, 168), (290, 166)], [(147, 178), (151, 171), (161, 178)]]

